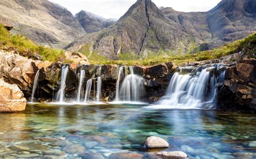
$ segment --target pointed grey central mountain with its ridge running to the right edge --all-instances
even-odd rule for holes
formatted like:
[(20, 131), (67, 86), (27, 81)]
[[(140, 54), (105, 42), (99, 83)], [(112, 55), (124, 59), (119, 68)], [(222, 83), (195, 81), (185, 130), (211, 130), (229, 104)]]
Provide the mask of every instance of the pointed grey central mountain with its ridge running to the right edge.
[(223, 0), (208, 12), (178, 12), (138, 0), (116, 24), (66, 48), (106, 59), (210, 49), (256, 31), (255, 4), (256, 0)]

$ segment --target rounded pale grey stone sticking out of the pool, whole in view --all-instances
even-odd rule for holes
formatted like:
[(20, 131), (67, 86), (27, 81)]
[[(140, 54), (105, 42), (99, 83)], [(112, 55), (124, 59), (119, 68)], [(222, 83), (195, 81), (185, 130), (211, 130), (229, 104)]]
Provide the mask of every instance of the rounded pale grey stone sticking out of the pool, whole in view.
[(165, 148), (170, 146), (167, 141), (156, 136), (150, 136), (147, 138), (145, 145), (147, 148)]

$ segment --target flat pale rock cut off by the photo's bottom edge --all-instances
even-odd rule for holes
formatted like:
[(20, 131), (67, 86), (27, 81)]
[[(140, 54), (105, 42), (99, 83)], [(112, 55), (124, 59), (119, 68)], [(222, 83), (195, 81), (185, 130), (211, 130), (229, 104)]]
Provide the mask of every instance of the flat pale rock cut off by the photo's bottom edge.
[(160, 152), (156, 153), (157, 156), (164, 158), (164, 159), (186, 159), (188, 158), (187, 154), (183, 151), (171, 151), (171, 152)]

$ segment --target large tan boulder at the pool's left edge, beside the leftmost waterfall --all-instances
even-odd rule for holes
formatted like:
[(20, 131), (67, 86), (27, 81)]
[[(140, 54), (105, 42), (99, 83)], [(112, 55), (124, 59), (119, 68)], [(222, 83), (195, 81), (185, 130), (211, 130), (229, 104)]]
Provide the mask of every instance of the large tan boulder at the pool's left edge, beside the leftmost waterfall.
[(0, 79), (0, 112), (24, 111), (26, 99), (16, 84), (9, 84)]

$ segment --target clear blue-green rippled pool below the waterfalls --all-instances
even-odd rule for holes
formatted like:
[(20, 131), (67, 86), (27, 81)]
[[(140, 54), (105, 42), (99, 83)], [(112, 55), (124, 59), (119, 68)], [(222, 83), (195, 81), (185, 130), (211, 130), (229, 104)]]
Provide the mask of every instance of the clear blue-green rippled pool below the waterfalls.
[[(86, 152), (104, 157), (129, 152), (146, 158), (150, 151), (163, 150), (181, 150), (191, 158), (256, 157), (255, 114), (150, 110), (141, 105), (41, 104), (28, 105), (23, 113), (0, 114), (0, 123), (0, 158), (1, 146), (44, 136), (65, 137), (84, 146)], [(147, 150), (143, 141), (151, 135), (166, 139), (171, 147)]]

